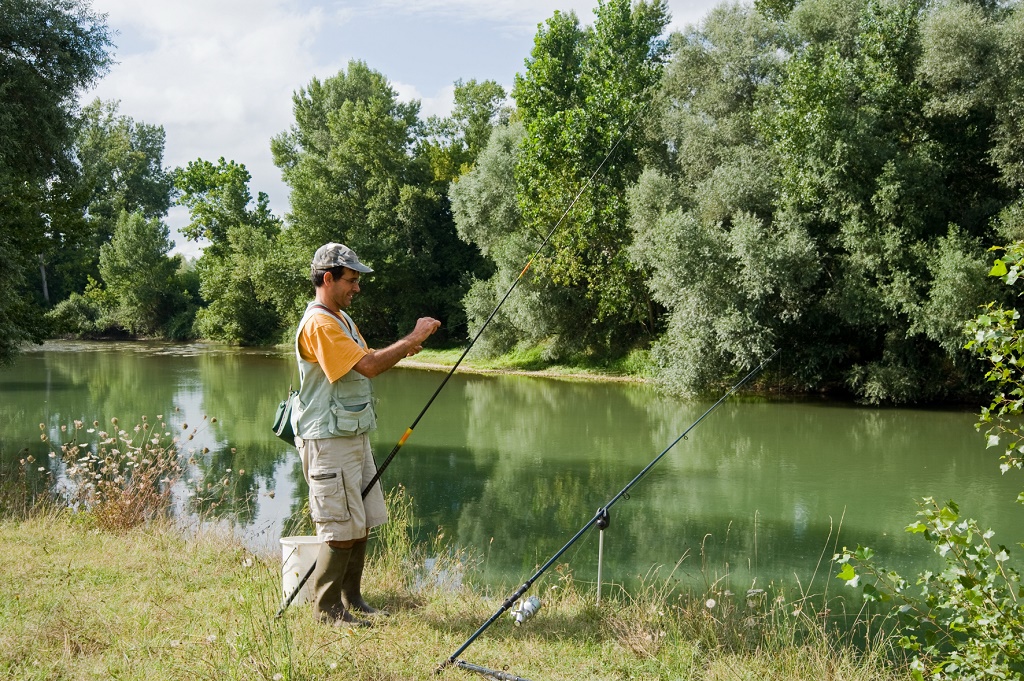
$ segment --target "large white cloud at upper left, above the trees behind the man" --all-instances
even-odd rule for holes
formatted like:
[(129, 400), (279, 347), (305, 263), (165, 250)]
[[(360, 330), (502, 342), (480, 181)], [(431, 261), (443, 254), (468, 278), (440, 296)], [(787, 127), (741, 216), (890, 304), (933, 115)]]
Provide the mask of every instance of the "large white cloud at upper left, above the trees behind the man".
[[(221, 156), (246, 164), (254, 193), (266, 191), (284, 213), (287, 187), (269, 140), (291, 122), (292, 93), (312, 74), (338, 69), (313, 57), (324, 11), (296, 11), (284, 0), (95, 0), (94, 9), (108, 13), (119, 48), (83, 99), (117, 99), (123, 115), (163, 125), (167, 166)], [(168, 222), (177, 228), (186, 218), (174, 211)]]

